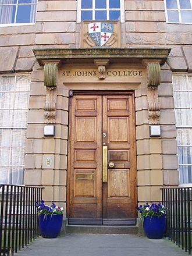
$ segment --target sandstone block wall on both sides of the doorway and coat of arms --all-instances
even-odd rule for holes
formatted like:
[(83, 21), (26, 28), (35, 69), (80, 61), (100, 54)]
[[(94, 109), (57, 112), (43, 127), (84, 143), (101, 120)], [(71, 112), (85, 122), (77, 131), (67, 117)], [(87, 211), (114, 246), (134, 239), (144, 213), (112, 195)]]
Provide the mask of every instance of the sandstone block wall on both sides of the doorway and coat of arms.
[[(0, 73), (31, 73), (24, 182), (44, 185), (45, 200), (59, 204), (66, 201), (67, 91), (58, 86), (56, 135), (45, 138), (43, 67), (38, 65), (32, 50), (79, 47), (76, 10), (75, 0), (39, 0), (35, 24), (0, 27)], [(179, 182), (172, 72), (192, 72), (192, 24), (166, 23), (163, 0), (129, 0), (125, 1), (121, 38), (122, 47), (127, 48), (172, 48), (162, 66), (159, 86), (161, 138), (150, 138), (148, 134), (146, 87), (136, 90), (138, 201), (158, 201), (163, 184)], [(54, 159), (51, 169), (44, 168), (46, 156)]]

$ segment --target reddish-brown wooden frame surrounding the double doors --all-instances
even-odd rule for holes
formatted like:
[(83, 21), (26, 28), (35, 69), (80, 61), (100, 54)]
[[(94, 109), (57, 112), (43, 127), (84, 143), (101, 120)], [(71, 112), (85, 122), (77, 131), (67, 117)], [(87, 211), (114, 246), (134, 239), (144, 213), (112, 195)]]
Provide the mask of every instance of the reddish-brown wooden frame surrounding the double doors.
[[(135, 108), (135, 92), (134, 90), (70, 90), (69, 89), (69, 126), (68, 126), (68, 150), (67, 150), (67, 190), (66, 190), (66, 218), (69, 216), (70, 203), (70, 152), (71, 152), (71, 136), (72, 136), (72, 97), (73, 95), (131, 95), (133, 97), (133, 131), (135, 141), (133, 148), (135, 152), (134, 165), (134, 205), (137, 206), (137, 151), (136, 151), (136, 108)], [(135, 218), (137, 218), (137, 211), (134, 211)]]

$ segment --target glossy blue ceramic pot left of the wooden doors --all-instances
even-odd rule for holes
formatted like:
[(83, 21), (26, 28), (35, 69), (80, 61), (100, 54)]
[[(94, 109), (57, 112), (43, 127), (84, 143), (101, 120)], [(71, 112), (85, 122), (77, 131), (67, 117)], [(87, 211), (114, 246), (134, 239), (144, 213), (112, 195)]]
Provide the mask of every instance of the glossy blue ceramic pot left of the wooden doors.
[(38, 218), (40, 234), (44, 238), (58, 236), (63, 221), (62, 214), (40, 214)]

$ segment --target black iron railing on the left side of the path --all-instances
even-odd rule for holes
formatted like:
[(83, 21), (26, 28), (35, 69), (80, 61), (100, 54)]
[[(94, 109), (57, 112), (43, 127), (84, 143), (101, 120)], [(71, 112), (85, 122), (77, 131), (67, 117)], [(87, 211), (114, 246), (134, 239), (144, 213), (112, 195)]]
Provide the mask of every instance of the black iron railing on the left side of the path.
[(0, 255), (13, 255), (39, 236), (35, 202), (42, 187), (0, 184)]

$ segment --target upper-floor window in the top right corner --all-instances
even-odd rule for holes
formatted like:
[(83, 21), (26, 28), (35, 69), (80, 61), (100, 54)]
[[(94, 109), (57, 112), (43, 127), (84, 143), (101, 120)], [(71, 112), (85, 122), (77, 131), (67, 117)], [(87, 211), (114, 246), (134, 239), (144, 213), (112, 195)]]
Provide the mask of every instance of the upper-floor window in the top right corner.
[(166, 20), (173, 23), (192, 23), (192, 0), (165, 0)]

